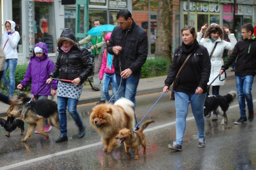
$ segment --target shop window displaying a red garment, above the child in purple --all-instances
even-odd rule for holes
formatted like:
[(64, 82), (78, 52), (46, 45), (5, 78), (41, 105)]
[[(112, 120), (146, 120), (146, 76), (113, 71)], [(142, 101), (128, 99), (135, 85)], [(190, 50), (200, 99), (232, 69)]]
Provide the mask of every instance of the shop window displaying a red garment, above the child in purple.
[[(55, 53), (56, 50), (54, 16), (54, 3), (34, 2), (34, 21), (32, 21), (32, 23), (34, 24), (35, 40), (33, 44), (39, 42), (45, 43), (48, 53)], [(31, 21), (29, 20), (29, 22)]]

